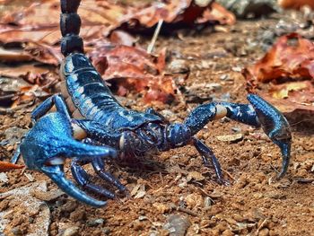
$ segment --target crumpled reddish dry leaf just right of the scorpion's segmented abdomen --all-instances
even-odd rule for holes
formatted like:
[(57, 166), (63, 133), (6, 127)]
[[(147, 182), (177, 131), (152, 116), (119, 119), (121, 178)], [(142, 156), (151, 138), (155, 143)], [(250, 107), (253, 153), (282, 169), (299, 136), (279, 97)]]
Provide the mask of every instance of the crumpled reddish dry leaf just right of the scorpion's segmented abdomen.
[(142, 92), (146, 102), (174, 99), (176, 87), (172, 76), (163, 74), (165, 50), (154, 57), (141, 48), (99, 44), (90, 56), (102, 77), (118, 86), (118, 95), (135, 91)]

